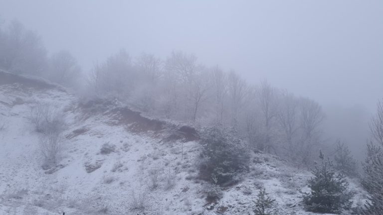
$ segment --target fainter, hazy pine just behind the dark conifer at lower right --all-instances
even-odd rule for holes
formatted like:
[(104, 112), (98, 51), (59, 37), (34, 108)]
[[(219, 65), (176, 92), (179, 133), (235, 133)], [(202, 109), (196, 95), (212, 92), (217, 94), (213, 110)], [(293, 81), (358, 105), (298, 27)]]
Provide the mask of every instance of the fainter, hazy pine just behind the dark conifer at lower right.
[(358, 177), (358, 163), (351, 155), (349, 147), (340, 140), (336, 142), (336, 152), (334, 155), (334, 168), (350, 177)]

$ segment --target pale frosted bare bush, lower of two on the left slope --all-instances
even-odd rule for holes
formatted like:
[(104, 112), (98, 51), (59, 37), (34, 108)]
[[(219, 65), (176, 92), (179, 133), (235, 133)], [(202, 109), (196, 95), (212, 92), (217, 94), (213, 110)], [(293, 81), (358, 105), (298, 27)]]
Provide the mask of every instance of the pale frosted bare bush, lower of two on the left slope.
[(44, 166), (55, 165), (63, 150), (63, 141), (59, 133), (50, 132), (40, 137), (40, 152), (44, 157)]

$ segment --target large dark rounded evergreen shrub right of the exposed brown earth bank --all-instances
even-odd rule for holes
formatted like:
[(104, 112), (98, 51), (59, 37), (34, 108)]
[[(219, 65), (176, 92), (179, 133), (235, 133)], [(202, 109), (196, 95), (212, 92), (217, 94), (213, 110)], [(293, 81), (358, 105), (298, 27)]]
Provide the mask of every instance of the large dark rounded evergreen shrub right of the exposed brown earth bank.
[(200, 133), (201, 163), (199, 177), (220, 186), (235, 181), (238, 172), (246, 167), (249, 156), (243, 142), (234, 131), (209, 127)]

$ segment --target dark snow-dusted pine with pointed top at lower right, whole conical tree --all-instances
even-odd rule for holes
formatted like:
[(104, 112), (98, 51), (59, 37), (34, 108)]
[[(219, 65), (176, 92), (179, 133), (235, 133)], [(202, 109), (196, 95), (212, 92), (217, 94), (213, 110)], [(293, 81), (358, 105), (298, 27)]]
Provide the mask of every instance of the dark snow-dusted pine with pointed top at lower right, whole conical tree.
[(303, 203), (307, 211), (316, 213), (341, 213), (350, 209), (353, 193), (349, 192), (349, 184), (342, 173), (336, 173), (330, 159), (325, 160), (320, 151), (322, 164), (313, 170), (314, 178), (308, 180), (310, 193), (303, 194)]

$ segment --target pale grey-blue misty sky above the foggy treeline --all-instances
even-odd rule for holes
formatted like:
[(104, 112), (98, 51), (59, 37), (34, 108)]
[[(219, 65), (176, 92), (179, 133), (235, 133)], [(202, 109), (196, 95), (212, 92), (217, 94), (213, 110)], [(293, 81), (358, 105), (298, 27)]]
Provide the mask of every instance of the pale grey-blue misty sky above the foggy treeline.
[(0, 0), (0, 16), (85, 71), (120, 48), (183, 50), (324, 106), (372, 112), (383, 98), (382, 0)]

